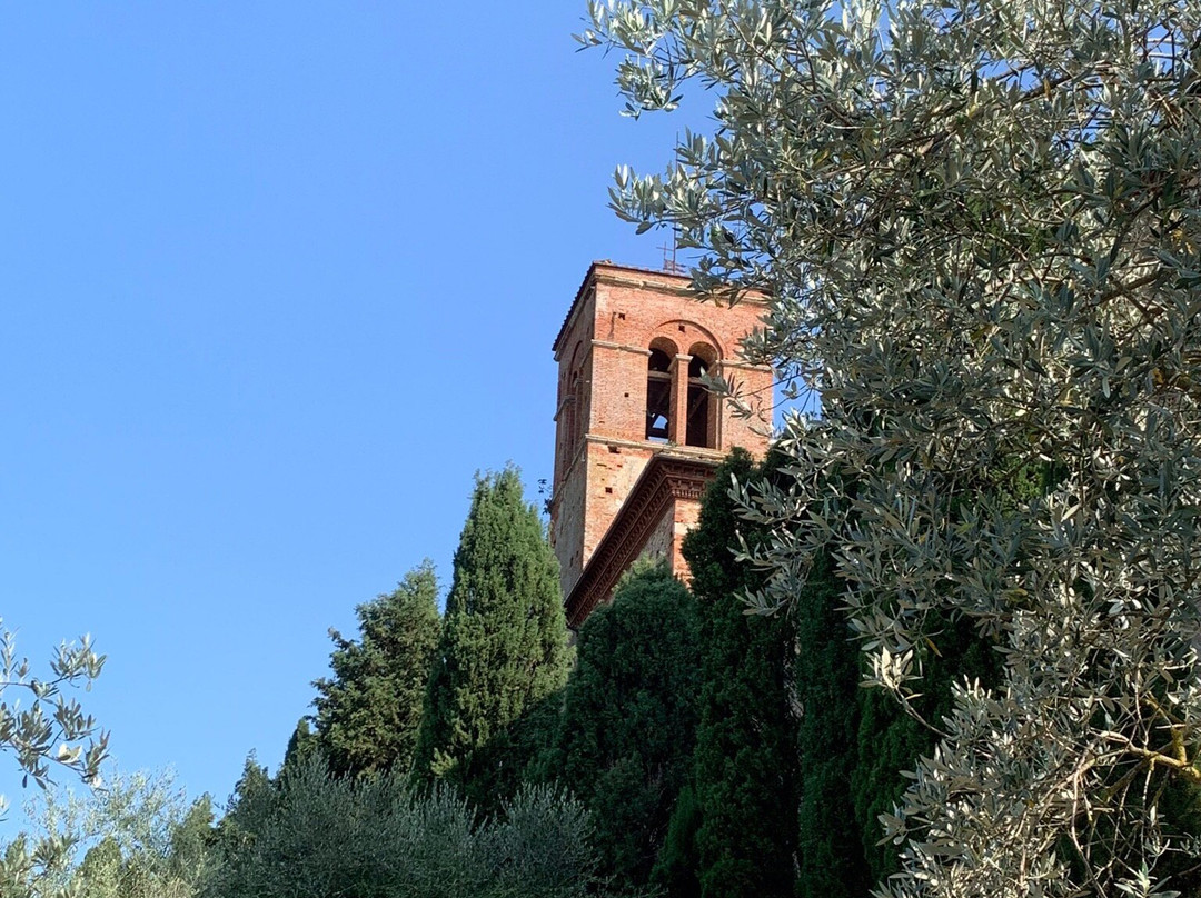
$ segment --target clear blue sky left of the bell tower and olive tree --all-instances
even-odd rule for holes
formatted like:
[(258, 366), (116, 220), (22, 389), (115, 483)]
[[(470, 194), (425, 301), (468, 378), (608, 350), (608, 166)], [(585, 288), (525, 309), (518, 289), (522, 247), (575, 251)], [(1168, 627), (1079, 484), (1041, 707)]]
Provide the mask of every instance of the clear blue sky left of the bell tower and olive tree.
[(327, 628), (449, 580), (474, 472), (550, 477), (575, 288), (662, 261), (611, 172), (681, 126), (619, 116), (584, 7), (0, 11), (0, 613), (108, 653), (123, 768), (274, 767)]

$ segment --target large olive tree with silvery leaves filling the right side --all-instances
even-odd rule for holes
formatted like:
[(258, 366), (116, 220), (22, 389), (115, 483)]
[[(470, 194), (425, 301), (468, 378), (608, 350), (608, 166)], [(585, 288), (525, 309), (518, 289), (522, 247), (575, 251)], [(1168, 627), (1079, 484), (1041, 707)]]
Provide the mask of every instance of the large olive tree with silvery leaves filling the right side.
[[(870, 681), (963, 681), (888, 834), (886, 896), (1171, 894), (1201, 783), (1201, 5), (609, 0), (627, 112), (691, 82), (715, 133), (613, 203), (770, 299), (747, 353), (795, 415), (755, 610), (832, 547)], [(733, 394), (737, 384), (724, 384)], [(825, 485), (852, 485), (843, 495)], [(1027, 489), (1030, 485), (1035, 489)], [(1176, 796), (1176, 797), (1173, 797)], [(1187, 814), (1185, 814), (1187, 816)]]

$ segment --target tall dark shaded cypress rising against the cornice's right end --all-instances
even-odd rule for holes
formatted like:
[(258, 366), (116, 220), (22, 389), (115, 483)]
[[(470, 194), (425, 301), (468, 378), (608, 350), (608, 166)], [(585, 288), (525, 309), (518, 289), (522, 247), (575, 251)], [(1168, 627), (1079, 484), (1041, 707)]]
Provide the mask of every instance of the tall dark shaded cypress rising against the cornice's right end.
[[(739, 531), (751, 543), (758, 534), (735, 515), (731, 475), (752, 483), (767, 474), (735, 450), (718, 469), (699, 525), (683, 545), (703, 671), (693, 773), (700, 826), (692, 850), (706, 898), (785, 896), (793, 892), (799, 796), (793, 623), (783, 615), (743, 613), (740, 595), (760, 575), (739, 563), (734, 549)], [(682, 803), (677, 808), (686, 816), (697, 813)]]

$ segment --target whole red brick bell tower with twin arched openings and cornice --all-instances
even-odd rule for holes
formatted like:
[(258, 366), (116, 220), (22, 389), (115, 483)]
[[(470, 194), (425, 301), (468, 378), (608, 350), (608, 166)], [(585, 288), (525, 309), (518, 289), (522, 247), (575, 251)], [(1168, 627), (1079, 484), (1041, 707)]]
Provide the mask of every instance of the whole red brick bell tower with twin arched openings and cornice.
[[(573, 629), (644, 552), (687, 577), (681, 540), (718, 462), (734, 447), (766, 451), (772, 373), (739, 357), (763, 312), (754, 298), (699, 303), (680, 275), (588, 269), (554, 345), (550, 538)], [(707, 371), (741, 383), (755, 418), (734, 418), (701, 384)]]

